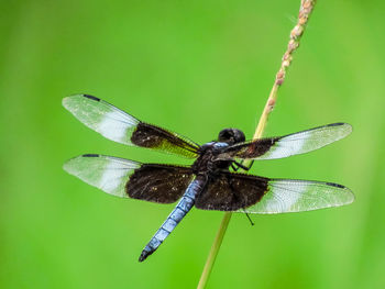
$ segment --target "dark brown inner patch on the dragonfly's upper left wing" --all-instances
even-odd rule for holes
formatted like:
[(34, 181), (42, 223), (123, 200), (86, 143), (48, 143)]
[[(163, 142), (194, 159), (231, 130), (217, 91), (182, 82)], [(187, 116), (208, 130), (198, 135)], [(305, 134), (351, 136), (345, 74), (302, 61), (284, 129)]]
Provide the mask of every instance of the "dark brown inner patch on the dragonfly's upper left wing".
[(141, 147), (155, 148), (185, 157), (197, 157), (199, 146), (184, 136), (162, 127), (140, 122), (132, 133), (131, 143)]

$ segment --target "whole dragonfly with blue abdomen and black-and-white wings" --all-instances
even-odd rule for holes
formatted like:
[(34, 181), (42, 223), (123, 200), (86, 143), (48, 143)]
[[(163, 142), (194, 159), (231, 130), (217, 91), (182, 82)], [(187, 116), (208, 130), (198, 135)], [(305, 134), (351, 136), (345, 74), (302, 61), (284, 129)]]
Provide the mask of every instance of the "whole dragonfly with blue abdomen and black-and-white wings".
[(158, 248), (193, 207), (276, 214), (340, 207), (354, 200), (352, 191), (339, 184), (238, 173), (250, 169), (243, 160), (284, 158), (339, 141), (352, 132), (348, 123), (252, 141), (245, 141), (240, 130), (224, 129), (216, 141), (198, 145), (89, 95), (64, 98), (63, 105), (89, 129), (111, 141), (195, 159), (191, 166), (177, 166), (85, 154), (64, 164), (67, 173), (113, 196), (156, 203), (178, 201), (145, 245), (140, 262)]

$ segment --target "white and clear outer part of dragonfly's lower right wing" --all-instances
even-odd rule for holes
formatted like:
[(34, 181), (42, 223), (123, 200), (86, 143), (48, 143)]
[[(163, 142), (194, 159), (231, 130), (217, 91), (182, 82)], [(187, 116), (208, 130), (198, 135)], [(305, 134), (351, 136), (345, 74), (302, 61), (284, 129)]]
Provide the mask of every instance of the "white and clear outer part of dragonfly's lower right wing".
[(311, 180), (271, 179), (265, 196), (254, 205), (240, 210), (246, 213), (289, 213), (340, 207), (354, 201), (344, 186)]

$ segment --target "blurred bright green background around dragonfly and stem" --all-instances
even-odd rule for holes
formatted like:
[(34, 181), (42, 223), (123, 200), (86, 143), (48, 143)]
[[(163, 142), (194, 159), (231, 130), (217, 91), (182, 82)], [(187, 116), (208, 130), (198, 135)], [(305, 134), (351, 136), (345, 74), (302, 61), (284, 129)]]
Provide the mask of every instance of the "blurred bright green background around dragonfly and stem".
[[(0, 287), (195, 288), (223, 213), (193, 210), (146, 262), (174, 205), (113, 198), (67, 175), (82, 153), (188, 164), (108, 141), (62, 98), (87, 92), (213, 140), (252, 136), (299, 1), (1, 1)], [(385, 4), (318, 1), (265, 135), (349, 122), (348, 138), (258, 162), (253, 174), (328, 180), (356, 201), (234, 214), (208, 288), (385, 288)]]

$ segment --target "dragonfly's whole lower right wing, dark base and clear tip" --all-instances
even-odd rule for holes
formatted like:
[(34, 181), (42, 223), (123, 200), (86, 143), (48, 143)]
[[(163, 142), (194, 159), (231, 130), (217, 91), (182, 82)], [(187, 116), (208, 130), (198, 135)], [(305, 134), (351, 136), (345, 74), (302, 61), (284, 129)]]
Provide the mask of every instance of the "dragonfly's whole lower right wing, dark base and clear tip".
[(354, 194), (350, 189), (333, 182), (223, 173), (198, 196), (196, 207), (274, 214), (340, 207), (353, 201)]

